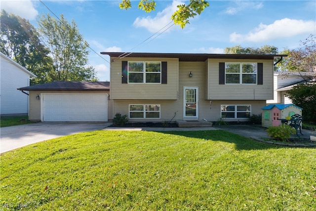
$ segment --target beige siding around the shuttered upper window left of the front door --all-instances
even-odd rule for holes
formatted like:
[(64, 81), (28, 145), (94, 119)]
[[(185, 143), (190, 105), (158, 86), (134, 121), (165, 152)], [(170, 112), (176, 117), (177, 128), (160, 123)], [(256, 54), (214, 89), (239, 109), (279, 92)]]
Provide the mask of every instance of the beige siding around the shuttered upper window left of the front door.
[[(166, 61), (167, 84), (122, 84), (122, 61)], [(189, 74), (189, 73), (188, 73)], [(178, 58), (111, 57), (111, 99), (178, 99)]]

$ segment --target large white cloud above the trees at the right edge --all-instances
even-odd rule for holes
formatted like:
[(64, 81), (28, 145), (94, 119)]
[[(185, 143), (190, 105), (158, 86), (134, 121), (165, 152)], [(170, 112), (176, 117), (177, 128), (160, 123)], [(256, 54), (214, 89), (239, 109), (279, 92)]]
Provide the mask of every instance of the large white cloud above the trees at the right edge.
[(266, 42), (286, 37), (293, 37), (300, 34), (315, 33), (316, 22), (309, 20), (294, 20), (284, 18), (276, 20), (270, 25), (260, 23), (259, 27), (255, 28), (248, 34), (241, 35), (236, 32), (230, 35), (231, 42)]

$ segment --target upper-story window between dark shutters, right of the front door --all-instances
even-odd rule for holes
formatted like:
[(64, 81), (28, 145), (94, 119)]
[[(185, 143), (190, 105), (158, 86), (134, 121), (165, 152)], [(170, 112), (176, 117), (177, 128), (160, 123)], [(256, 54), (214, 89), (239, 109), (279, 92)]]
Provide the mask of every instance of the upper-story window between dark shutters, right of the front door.
[(226, 84), (257, 84), (257, 63), (225, 63)]

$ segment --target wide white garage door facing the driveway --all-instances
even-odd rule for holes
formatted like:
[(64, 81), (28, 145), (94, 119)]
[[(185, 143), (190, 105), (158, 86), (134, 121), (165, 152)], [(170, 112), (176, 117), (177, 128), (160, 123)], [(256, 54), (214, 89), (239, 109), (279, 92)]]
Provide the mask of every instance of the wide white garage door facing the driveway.
[(107, 122), (107, 94), (42, 94), (43, 122)]

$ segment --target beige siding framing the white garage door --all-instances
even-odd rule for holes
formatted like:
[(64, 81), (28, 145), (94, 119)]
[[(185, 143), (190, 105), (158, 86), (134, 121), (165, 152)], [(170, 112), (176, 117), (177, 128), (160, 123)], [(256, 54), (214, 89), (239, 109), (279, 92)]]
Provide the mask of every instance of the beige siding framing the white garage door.
[[(83, 94), (93, 94), (93, 93), (107, 93), (109, 91), (30, 91), (30, 113), (29, 120), (40, 121), (40, 101), (37, 100), (36, 96), (45, 93), (83, 93)], [(108, 120), (113, 119), (113, 100), (108, 100)]]

